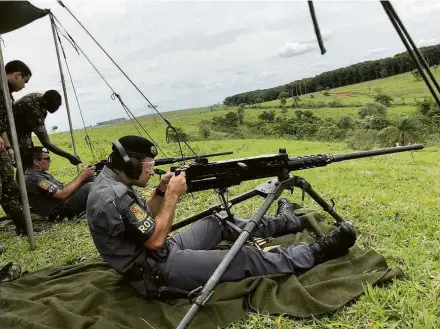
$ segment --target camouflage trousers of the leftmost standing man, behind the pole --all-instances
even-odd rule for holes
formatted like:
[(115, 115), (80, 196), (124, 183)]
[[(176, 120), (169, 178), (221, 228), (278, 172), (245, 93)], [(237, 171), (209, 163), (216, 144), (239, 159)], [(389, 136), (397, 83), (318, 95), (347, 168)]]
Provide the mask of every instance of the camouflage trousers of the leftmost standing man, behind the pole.
[(14, 167), (6, 150), (0, 151), (0, 204), (19, 230), (26, 232), (20, 188), (14, 178)]

